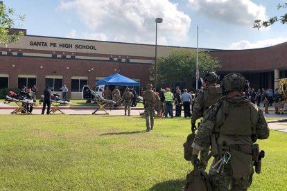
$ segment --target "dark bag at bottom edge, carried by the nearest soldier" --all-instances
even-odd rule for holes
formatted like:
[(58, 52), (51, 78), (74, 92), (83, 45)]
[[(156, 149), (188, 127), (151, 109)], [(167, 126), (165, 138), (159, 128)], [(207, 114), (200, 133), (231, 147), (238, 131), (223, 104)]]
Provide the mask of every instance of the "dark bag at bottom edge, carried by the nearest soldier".
[(207, 172), (198, 170), (198, 165), (186, 175), (184, 191), (211, 191)]

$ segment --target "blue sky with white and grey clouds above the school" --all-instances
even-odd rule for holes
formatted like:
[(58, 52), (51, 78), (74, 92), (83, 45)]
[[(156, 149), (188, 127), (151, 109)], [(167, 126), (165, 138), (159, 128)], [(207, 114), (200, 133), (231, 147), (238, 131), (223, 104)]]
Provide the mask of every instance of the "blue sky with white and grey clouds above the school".
[[(26, 15), (28, 35), (216, 49), (287, 42), (287, 25), (253, 28), (255, 19), (286, 13), (283, 0), (1, 0)], [(198, 27), (197, 27), (198, 26)], [(197, 33), (198, 28), (198, 33)]]

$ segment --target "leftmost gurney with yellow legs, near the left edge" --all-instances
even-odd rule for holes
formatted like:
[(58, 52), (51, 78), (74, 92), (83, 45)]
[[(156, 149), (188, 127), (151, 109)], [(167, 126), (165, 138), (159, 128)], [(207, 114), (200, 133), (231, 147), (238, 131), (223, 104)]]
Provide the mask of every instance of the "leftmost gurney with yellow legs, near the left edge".
[(24, 98), (23, 96), (17, 96), (16, 93), (10, 91), (4, 103), (15, 102), (17, 104), (17, 108), (11, 112), (11, 114), (31, 114), (33, 109), (28, 109), (29, 107), (34, 106), (36, 104), (36, 100)]

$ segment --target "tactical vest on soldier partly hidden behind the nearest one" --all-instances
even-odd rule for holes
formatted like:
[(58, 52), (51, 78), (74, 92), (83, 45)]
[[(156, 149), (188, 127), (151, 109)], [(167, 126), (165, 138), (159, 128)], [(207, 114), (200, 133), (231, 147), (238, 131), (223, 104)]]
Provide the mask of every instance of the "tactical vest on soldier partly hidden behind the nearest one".
[(207, 87), (207, 89), (203, 90), (204, 93), (204, 102), (203, 102), (203, 116), (211, 105), (215, 104), (218, 98), (223, 96), (222, 88), (219, 85)]

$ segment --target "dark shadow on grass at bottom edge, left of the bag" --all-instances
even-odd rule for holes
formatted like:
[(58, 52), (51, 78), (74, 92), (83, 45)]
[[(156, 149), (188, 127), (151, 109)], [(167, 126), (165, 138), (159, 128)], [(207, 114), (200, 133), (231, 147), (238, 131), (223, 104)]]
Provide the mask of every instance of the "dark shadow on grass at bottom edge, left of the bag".
[(184, 180), (170, 180), (164, 181), (162, 183), (157, 183), (152, 188), (150, 188), (150, 191), (182, 190), (183, 186)]

